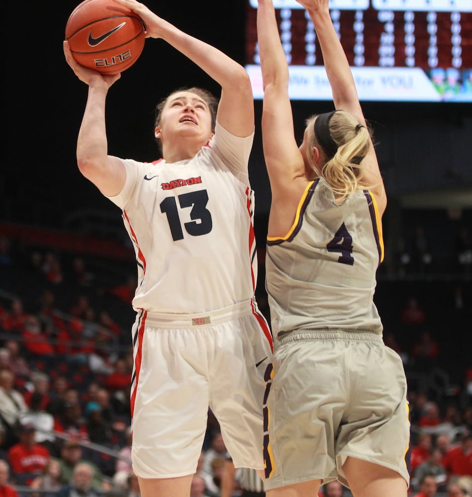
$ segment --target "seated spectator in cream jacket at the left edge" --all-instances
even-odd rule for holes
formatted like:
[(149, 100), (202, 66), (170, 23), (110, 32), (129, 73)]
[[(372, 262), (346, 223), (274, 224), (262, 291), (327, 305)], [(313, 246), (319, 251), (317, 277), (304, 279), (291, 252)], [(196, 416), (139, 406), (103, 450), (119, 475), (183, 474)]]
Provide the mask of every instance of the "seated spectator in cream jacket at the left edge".
[(5, 430), (5, 448), (18, 441), (16, 424), (22, 414), (28, 410), (23, 396), (13, 388), (14, 374), (8, 369), (0, 371), (0, 422)]

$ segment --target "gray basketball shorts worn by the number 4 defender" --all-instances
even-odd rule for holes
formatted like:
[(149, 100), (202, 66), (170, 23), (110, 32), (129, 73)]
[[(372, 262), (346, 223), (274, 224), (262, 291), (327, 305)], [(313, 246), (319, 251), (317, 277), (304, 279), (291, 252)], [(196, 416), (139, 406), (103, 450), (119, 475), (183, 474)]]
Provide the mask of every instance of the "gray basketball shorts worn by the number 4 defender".
[(297, 331), (274, 352), (264, 397), (266, 490), (339, 480), (348, 456), (409, 484), (407, 386), (400, 357), (373, 333)]

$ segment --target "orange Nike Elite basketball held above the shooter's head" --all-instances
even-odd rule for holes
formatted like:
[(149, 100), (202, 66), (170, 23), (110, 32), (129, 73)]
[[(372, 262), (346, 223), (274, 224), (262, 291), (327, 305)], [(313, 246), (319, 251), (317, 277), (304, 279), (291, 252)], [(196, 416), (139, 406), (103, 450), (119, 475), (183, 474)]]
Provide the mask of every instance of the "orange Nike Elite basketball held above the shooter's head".
[(144, 24), (114, 0), (85, 0), (69, 16), (66, 40), (79, 64), (102, 74), (116, 74), (141, 55)]

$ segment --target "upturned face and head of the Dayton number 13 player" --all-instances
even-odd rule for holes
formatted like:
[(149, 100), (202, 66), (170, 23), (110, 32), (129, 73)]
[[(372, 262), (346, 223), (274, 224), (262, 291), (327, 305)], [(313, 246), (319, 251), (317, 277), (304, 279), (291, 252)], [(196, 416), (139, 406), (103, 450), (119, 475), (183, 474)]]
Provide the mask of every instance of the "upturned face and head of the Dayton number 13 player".
[[(158, 136), (160, 133), (162, 136)], [(162, 110), (156, 136), (166, 140), (194, 137), (201, 145), (211, 138), (211, 113), (207, 103), (195, 93), (179, 91), (172, 94)]]

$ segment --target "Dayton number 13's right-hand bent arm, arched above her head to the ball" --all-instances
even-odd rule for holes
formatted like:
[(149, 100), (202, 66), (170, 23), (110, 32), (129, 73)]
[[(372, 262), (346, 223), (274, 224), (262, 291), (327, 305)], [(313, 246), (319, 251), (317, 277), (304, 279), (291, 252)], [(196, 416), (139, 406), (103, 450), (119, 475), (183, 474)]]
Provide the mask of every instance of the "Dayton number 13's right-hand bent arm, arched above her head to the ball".
[(200, 41), (154, 14), (136, 0), (116, 0), (136, 12), (146, 37), (162, 38), (199, 66), (221, 86), (218, 122), (230, 133), (246, 137), (254, 131), (254, 100), (245, 69), (215, 47)]

